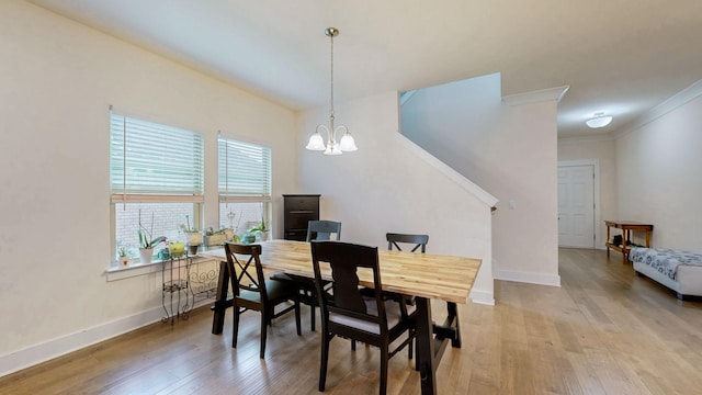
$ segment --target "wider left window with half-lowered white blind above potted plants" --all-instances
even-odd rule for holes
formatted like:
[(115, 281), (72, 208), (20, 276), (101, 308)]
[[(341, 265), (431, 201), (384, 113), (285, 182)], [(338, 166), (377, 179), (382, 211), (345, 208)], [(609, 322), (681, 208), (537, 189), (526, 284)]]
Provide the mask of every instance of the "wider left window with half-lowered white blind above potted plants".
[(113, 257), (138, 257), (139, 217), (152, 237), (184, 240), (179, 225), (201, 223), (204, 142), (199, 133), (110, 114)]

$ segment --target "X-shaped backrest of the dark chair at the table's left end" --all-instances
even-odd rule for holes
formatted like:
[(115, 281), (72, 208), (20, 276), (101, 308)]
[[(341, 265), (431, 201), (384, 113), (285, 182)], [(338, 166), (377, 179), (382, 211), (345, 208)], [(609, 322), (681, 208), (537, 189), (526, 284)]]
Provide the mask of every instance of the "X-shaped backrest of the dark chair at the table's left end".
[(261, 293), (261, 300), (268, 301), (265, 278), (261, 267), (261, 245), (240, 245), (230, 241), (224, 244), (227, 256), (227, 269), (235, 295), (244, 291)]

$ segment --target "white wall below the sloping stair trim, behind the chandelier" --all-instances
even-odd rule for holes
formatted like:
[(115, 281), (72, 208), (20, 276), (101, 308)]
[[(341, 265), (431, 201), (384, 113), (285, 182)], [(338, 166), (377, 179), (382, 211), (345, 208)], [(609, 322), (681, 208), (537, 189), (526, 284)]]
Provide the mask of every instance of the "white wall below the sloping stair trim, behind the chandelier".
[[(397, 92), (337, 104), (337, 125), (359, 150), (329, 157), (299, 145), (301, 192), (320, 193), (320, 216), (342, 223), (342, 239), (385, 248), (385, 233), (428, 234), (428, 251), (483, 259), (473, 301), (492, 304), (490, 206), (435, 167), (398, 133)], [(328, 109), (301, 116), (306, 140)], [(430, 273), (428, 273), (430, 275)]]

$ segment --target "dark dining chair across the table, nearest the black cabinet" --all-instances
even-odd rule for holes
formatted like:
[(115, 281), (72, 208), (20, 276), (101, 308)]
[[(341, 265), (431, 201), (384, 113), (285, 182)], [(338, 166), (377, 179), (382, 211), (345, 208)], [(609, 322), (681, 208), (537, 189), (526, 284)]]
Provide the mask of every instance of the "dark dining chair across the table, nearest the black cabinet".
[[(330, 240), (331, 235), (336, 235), (336, 240), (341, 239), (341, 223), (336, 221), (309, 221), (307, 224), (307, 242), (313, 240)], [(272, 279), (279, 281), (288, 281), (296, 284), (299, 290), (299, 301), (309, 306), (309, 328), (316, 329), (316, 307), (317, 305), (317, 292), (315, 291), (315, 283), (310, 279), (278, 272), (272, 275)], [(355, 347), (355, 345), (354, 345)]]

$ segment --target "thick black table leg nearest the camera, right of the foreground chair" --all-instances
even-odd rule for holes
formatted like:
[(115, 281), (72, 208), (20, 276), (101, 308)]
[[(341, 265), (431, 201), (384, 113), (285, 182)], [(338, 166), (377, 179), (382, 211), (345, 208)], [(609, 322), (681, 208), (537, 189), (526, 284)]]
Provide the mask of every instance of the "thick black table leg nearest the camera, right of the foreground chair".
[(434, 361), (433, 323), (431, 301), (417, 297), (417, 365), (422, 394), (437, 393), (437, 363)]

